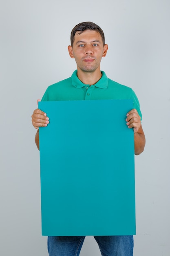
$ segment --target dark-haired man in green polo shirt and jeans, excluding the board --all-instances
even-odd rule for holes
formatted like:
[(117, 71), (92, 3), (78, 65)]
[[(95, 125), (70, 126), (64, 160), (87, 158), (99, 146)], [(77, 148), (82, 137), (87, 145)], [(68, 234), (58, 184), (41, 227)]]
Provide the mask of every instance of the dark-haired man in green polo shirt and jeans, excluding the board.
[[(42, 101), (89, 100), (89, 99), (133, 99), (134, 108), (127, 113), (126, 124), (134, 130), (135, 155), (144, 150), (145, 135), (141, 126), (139, 101), (132, 91), (107, 78), (100, 70), (102, 57), (106, 56), (102, 29), (93, 22), (82, 22), (71, 31), (71, 45), (68, 52), (75, 58), (77, 70), (72, 76), (47, 88)], [(32, 124), (38, 129), (49, 124), (49, 117), (40, 109), (32, 115)], [(115, 120), (116, 125), (116, 120)], [(39, 130), (35, 135), (39, 149)], [(50, 256), (78, 256), (84, 242), (84, 236), (48, 237)], [(95, 236), (102, 256), (132, 256), (133, 236)]]

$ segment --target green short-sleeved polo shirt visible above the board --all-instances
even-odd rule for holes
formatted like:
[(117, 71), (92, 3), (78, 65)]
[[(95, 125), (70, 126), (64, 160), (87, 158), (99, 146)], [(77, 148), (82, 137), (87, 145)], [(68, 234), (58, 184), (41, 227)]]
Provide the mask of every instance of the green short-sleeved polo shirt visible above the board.
[(71, 77), (50, 85), (42, 101), (75, 101), (95, 99), (133, 99), (133, 107), (142, 118), (139, 101), (135, 92), (113, 80), (110, 80), (104, 71), (101, 79), (95, 85), (86, 85), (77, 77), (75, 70)]

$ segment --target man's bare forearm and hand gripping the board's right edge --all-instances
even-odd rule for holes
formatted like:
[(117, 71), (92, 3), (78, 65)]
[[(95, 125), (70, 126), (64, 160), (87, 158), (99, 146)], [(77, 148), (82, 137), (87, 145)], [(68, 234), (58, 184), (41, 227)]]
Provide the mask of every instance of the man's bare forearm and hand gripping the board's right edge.
[(128, 128), (133, 128), (134, 130), (135, 155), (140, 155), (144, 151), (145, 135), (141, 126), (141, 117), (136, 109), (128, 112), (126, 122)]

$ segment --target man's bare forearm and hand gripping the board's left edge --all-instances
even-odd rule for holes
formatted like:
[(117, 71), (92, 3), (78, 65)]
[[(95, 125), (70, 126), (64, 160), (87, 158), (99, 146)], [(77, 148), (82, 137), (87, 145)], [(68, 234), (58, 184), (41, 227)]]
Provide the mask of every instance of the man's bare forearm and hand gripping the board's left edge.
[(37, 148), (39, 150), (39, 127), (46, 127), (49, 124), (49, 117), (47, 117), (46, 113), (38, 108), (34, 110), (31, 117), (34, 128), (38, 129), (35, 135), (35, 144), (37, 145)]

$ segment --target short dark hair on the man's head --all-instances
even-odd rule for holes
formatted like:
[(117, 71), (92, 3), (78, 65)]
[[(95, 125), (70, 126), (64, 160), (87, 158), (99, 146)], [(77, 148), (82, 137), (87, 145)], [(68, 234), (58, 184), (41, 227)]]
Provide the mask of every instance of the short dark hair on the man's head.
[(85, 30), (95, 30), (97, 31), (101, 37), (102, 37), (102, 42), (103, 42), (103, 45), (105, 44), (105, 37), (104, 37), (104, 32), (103, 30), (95, 23), (91, 22), (91, 21), (86, 21), (86, 22), (81, 22), (79, 24), (77, 24), (71, 31), (71, 37), (70, 37), (70, 40), (71, 40), (71, 46), (73, 46), (73, 43), (74, 43), (74, 36), (75, 36), (75, 33), (77, 31), (79, 31), (79, 34), (82, 34)]

